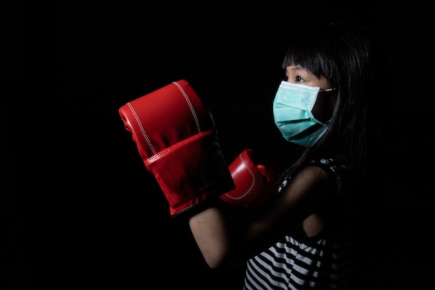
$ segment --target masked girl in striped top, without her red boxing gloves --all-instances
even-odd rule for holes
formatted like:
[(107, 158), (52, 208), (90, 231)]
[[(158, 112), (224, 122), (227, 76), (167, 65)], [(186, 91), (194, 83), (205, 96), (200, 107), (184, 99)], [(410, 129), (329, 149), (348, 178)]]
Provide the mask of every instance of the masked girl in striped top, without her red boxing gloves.
[(339, 23), (293, 40), (273, 113), (301, 154), (244, 218), (218, 204), (190, 217), (208, 266), (247, 261), (246, 290), (356, 289), (357, 221), (370, 215), (359, 209), (381, 120), (374, 46), (370, 29)]

